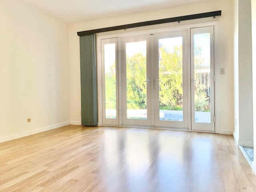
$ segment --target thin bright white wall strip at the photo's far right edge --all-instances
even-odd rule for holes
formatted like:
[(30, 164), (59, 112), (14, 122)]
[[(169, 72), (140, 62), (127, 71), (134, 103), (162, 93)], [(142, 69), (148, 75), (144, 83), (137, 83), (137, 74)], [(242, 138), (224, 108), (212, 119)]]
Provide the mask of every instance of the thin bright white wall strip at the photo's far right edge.
[[(256, 53), (256, 1), (252, 0), (252, 52)], [(254, 161), (252, 168), (256, 173), (256, 54), (252, 54), (253, 74), (253, 139), (254, 139)]]

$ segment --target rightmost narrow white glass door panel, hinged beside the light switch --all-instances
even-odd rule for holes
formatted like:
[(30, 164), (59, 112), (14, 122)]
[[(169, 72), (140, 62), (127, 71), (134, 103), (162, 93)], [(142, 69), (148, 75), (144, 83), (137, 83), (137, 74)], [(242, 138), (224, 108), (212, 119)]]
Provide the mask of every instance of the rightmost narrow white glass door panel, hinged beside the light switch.
[(214, 26), (190, 29), (191, 129), (214, 131)]

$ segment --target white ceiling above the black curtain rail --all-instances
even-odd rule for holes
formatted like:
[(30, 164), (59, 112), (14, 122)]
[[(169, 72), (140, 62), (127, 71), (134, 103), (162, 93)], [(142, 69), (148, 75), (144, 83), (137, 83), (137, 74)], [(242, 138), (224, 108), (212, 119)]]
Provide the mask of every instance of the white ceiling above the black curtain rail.
[(66, 23), (171, 8), (208, 0), (20, 0)]

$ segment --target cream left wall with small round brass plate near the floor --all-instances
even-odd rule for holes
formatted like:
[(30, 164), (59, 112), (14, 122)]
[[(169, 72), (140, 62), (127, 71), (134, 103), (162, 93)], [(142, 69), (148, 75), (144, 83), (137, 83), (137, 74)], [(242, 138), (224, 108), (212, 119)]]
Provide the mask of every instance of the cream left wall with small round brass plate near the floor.
[(69, 124), (68, 79), (67, 25), (1, 0), (0, 142)]

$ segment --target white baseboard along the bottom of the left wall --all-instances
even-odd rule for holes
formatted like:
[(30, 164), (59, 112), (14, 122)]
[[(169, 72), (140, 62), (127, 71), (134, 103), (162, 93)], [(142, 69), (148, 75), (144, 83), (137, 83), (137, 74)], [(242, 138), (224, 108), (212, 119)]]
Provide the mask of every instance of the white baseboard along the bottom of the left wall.
[(47, 126), (47, 127), (35, 129), (35, 130), (32, 130), (32, 131), (28, 131), (28, 132), (23, 132), (23, 133), (11, 135), (11, 136), (6, 136), (6, 137), (3, 137), (3, 138), (0, 138), (0, 143), (10, 141), (10, 140), (14, 140), (14, 139), (18, 139), (18, 138), (21, 138), (21, 137), (26, 137), (26, 136), (33, 135), (33, 134), (36, 134), (36, 133), (40, 133), (40, 132), (60, 128), (60, 127), (66, 126), (66, 125), (70, 125), (70, 122), (69, 121), (62, 122), (62, 123), (59, 123), (59, 124), (50, 125), (50, 126)]

